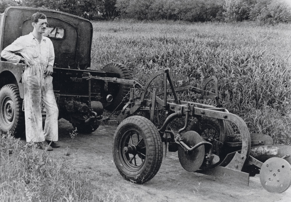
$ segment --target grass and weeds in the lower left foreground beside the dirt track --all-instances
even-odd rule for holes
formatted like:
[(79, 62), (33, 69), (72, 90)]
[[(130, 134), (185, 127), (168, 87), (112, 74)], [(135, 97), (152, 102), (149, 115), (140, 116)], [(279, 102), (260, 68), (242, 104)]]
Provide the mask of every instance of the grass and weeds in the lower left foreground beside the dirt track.
[(130, 201), (114, 183), (104, 183), (104, 178), (74, 170), (64, 158), (53, 159), (33, 143), (10, 134), (0, 137), (1, 202)]

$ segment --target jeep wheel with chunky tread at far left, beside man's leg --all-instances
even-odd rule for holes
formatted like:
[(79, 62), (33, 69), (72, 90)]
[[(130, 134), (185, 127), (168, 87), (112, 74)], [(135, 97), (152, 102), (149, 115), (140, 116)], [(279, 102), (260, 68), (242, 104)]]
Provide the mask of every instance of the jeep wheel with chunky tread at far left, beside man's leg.
[(22, 111), (22, 99), (18, 86), (8, 84), (0, 90), (0, 129), (2, 132), (12, 132), (15, 136), (21, 136), (25, 129), (24, 112)]

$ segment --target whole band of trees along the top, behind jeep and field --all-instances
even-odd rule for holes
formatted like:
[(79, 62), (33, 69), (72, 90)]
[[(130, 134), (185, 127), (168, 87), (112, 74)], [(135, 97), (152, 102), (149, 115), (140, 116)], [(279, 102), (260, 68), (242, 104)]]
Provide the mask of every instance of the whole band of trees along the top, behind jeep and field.
[(290, 0), (0, 0), (1, 13), (8, 6), (48, 8), (89, 20), (291, 22)]

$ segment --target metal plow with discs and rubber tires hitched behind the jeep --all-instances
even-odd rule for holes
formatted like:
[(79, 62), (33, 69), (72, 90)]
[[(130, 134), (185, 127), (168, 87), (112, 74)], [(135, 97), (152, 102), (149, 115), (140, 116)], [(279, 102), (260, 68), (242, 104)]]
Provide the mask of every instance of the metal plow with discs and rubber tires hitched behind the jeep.
[[(290, 187), (291, 146), (273, 145), (270, 136), (250, 133), (242, 118), (221, 108), (216, 78), (206, 82), (214, 83), (212, 91), (206, 85), (175, 89), (168, 69), (155, 73), (144, 86), (117, 78), (108, 78), (108, 82), (132, 86), (116, 118), (119, 125), (113, 139), (113, 159), (126, 180), (144, 183), (152, 179), (162, 164), (164, 144), (165, 151), (178, 152), (180, 164), (189, 172), (246, 185), (250, 176), (260, 174), (268, 192), (281, 193)], [(193, 101), (180, 100), (178, 94), (183, 92), (193, 93)], [(216, 106), (197, 99), (213, 99)], [(171, 125), (177, 120), (184, 126), (173, 130)]]

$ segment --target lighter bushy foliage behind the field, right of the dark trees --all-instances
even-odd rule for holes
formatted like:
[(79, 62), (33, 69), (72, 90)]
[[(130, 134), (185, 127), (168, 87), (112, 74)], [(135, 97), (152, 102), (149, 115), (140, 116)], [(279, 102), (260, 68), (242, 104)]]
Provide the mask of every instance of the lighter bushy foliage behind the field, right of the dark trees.
[(123, 17), (139, 20), (291, 22), (287, 0), (116, 0)]

